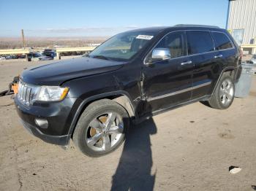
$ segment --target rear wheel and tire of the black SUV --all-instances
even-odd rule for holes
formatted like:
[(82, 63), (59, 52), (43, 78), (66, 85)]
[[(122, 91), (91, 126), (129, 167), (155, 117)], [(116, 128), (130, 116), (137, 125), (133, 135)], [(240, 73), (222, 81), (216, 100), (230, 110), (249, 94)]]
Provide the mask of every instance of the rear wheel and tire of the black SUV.
[(219, 83), (211, 95), (208, 104), (214, 109), (227, 109), (233, 103), (235, 97), (235, 85), (232, 77), (223, 74)]

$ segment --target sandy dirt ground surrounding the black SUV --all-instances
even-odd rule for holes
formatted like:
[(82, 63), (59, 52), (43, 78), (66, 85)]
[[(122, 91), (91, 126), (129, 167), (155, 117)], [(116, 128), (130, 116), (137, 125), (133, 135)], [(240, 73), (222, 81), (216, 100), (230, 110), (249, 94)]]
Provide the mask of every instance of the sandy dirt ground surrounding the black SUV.
[[(43, 62), (41, 62), (43, 63)], [(37, 62), (0, 63), (0, 91)], [(31, 136), (10, 96), (0, 98), (0, 190), (254, 190), (256, 77), (227, 110), (200, 103), (130, 129), (110, 155), (91, 158)], [(229, 167), (238, 166), (238, 174)], [(256, 190), (256, 189), (255, 189)]]

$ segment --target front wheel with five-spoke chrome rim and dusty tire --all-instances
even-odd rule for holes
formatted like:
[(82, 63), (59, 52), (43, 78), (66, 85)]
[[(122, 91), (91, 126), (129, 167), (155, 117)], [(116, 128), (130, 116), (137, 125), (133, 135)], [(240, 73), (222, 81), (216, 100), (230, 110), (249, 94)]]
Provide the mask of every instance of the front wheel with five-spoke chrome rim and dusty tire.
[(115, 101), (95, 101), (81, 114), (72, 139), (85, 155), (100, 157), (117, 149), (129, 128), (129, 115)]

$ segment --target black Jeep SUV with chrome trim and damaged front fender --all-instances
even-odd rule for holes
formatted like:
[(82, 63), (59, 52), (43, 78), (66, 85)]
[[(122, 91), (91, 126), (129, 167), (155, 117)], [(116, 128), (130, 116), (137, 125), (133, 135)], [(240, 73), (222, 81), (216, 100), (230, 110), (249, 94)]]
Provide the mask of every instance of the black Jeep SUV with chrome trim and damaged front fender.
[(233, 102), (241, 52), (214, 26), (142, 28), (117, 34), (81, 58), (26, 69), (15, 105), (34, 136), (75, 145), (86, 155), (112, 152), (130, 122), (208, 101)]

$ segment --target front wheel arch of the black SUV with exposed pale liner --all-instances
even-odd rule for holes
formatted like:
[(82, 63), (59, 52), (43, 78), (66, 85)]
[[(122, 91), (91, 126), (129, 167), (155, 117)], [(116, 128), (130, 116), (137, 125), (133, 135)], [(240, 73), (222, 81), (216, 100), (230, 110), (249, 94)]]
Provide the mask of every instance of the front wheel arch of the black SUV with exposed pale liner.
[(135, 117), (135, 106), (132, 104), (132, 98), (129, 96), (129, 93), (119, 90), (115, 92), (110, 93), (102, 93), (99, 95), (93, 95), (89, 98), (84, 99), (81, 104), (78, 106), (77, 111), (75, 112), (75, 115), (73, 117), (73, 120), (71, 122), (70, 128), (69, 128), (69, 137), (72, 137), (72, 134), (74, 133), (75, 126), (80, 118), (80, 115), (83, 113), (83, 111), (86, 109), (89, 104), (93, 103), (94, 101), (98, 101), (101, 99), (110, 99), (113, 101), (116, 101), (118, 104), (124, 107), (124, 109), (129, 114), (130, 118)]

